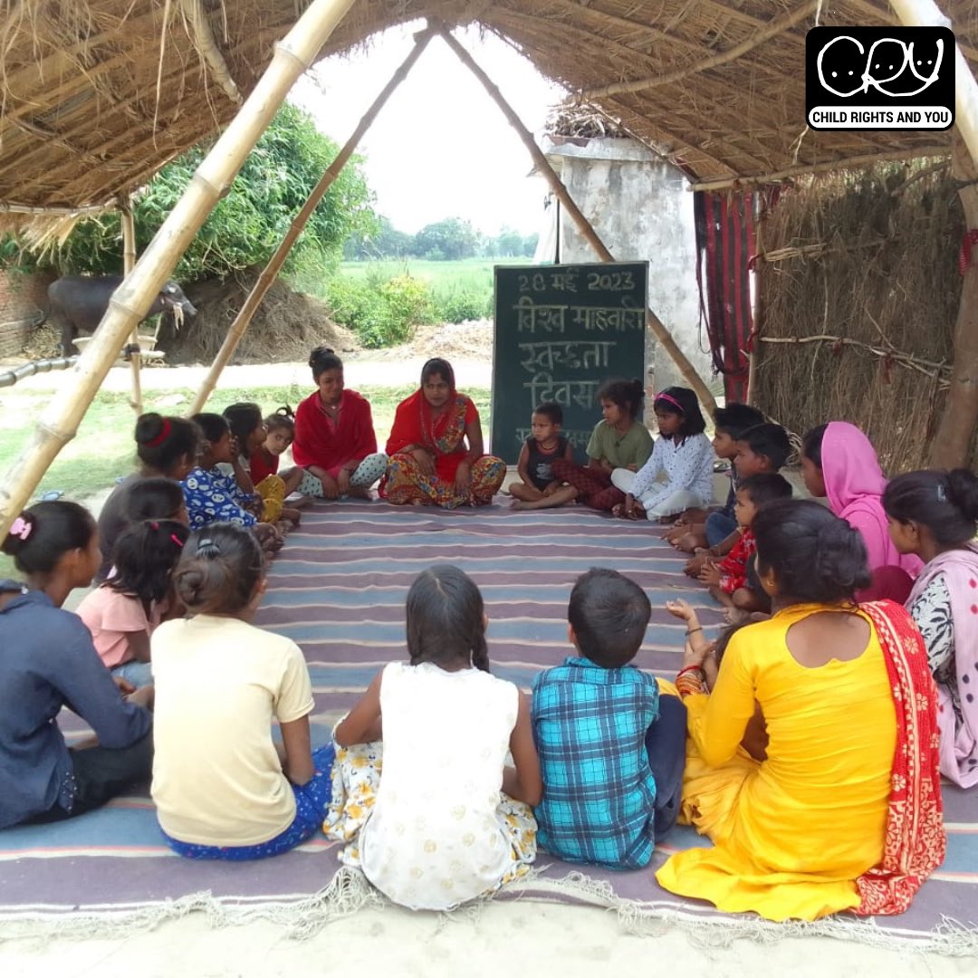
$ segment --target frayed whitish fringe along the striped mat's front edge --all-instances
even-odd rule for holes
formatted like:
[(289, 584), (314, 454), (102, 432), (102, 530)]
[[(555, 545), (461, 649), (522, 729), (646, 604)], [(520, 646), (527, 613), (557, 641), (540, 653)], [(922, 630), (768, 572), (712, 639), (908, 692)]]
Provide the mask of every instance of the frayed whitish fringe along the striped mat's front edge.
[[(699, 947), (729, 948), (734, 942), (751, 940), (772, 945), (792, 937), (828, 937), (854, 941), (873, 948), (953, 957), (978, 956), (978, 926), (945, 917), (930, 932), (884, 929), (872, 918), (829, 917), (813, 921), (774, 923), (752, 914), (721, 915), (702, 905), (669, 904), (664, 901), (628, 900), (615, 894), (611, 884), (586, 873), (573, 871), (562, 879), (531, 871), (499, 893), (473, 901), (455, 911), (438, 914), (439, 929), (477, 919), (490, 903), (512, 900), (541, 902), (570, 901), (582, 906), (614, 912), (628, 934), (660, 936), (673, 926), (688, 934)], [(293, 902), (269, 900), (243, 906), (209, 892), (195, 893), (136, 909), (82, 910), (77, 912), (16, 911), (0, 909), (0, 943), (27, 938), (57, 937), (67, 940), (118, 939), (155, 930), (169, 920), (202, 913), (215, 928), (239, 927), (265, 920), (279, 924), (286, 936), (308, 940), (333, 920), (350, 916), (365, 907), (390, 906), (359, 869), (341, 867), (329, 885), (311, 897)]]

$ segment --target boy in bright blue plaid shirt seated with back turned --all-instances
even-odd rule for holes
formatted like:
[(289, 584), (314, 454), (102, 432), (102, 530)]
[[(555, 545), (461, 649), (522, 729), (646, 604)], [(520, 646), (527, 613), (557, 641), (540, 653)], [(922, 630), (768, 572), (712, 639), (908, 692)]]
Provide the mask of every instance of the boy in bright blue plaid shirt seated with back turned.
[(537, 840), (568, 862), (644, 867), (679, 814), (686, 707), (630, 664), (650, 615), (634, 581), (593, 568), (567, 608), (578, 654), (533, 683), (544, 779)]

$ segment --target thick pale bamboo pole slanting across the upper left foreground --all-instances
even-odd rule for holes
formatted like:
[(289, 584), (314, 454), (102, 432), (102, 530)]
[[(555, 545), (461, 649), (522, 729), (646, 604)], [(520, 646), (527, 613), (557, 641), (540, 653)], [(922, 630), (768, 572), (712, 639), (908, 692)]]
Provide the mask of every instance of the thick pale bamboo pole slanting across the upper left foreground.
[(74, 437), (78, 423), (109, 373), (128, 333), (150, 307), (210, 209), (226, 193), (295, 79), (311, 67), (354, 0), (313, 0), (295, 22), (241, 111), (201, 161), (183, 197), (156, 232), (132, 274), (116, 289), (109, 309), (63, 387), (37, 422), (33, 438), (0, 479), (0, 539), (44, 472)]

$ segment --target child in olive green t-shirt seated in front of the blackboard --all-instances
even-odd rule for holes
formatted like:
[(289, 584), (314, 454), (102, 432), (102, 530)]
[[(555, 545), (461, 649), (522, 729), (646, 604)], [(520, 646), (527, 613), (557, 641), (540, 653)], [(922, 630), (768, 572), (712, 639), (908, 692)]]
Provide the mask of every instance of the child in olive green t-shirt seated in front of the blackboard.
[(612, 485), (611, 473), (616, 468), (637, 472), (652, 454), (652, 436), (641, 419), (644, 397), (641, 380), (606, 380), (601, 384), (597, 396), (601, 420), (588, 442), (587, 466), (556, 460), (551, 469), (565, 485), (544, 499), (517, 501), (512, 509), (544, 510), (576, 500), (593, 510), (610, 511), (623, 503), (625, 494)]

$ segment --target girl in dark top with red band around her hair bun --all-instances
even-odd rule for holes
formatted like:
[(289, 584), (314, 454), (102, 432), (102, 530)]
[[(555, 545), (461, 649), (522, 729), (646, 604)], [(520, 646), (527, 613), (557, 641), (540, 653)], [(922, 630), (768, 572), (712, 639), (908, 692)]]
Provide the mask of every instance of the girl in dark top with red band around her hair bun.
[(164, 418), (152, 411), (140, 415), (136, 419), (135, 438), (140, 470), (115, 486), (99, 512), (99, 546), (102, 549), (102, 562), (96, 574), (99, 583), (109, 577), (115, 540), (132, 519), (129, 515), (132, 487), (142, 479), (154, 477), (180, 482), (197, 465), (200, 429), (186, 418)]

